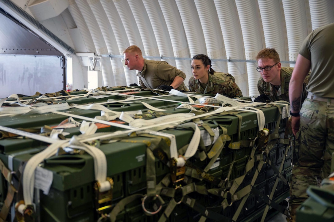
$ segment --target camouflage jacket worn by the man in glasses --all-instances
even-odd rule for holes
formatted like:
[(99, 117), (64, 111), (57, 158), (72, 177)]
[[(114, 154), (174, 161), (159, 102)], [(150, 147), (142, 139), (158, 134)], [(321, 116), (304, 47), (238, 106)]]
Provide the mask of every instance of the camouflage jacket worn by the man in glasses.
[[(265, 82), (262, 77), (260, 77), (258, 81), (258, 90), (260, 95), (265, 94), (269, 97), (270, 101), (278, 101), (284, 100), (290, 102), (289, 100), (289, 83), (291, 79), (293, 68), (291, 67), (282, 67), (281, 68), (281, 87), (277, 90), (272, 84), (269, 82)], [(303, 84), (303, 95), (302, 102), (305, 100), (307, 96), (306, 86), (309, 82), (309, 75), (304, 80)]]

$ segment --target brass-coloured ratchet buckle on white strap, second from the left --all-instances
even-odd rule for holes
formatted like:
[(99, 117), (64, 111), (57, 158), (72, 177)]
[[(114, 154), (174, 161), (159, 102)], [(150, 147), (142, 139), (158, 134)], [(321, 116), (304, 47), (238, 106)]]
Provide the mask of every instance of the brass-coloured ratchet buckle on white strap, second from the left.
[(107, 177), (107, 181), (109, 181), (111, 189), (104, 192), (100, 192), (100, 183), (98, 181), (94, 184), (95, 208), (98, 213), (102, 213), (102, 211), (112, 207), (114, 181), (110, 177)]

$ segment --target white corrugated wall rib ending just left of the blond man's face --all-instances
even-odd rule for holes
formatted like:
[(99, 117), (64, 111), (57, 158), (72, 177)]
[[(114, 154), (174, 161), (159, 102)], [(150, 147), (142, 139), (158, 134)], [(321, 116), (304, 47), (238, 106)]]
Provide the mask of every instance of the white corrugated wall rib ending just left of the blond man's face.
[[(102, 36), (104, 38), (104, 41), (107, 46), (107, 50), (109, 54), (116, 54), (118, 52), (117, 44), (116, 44), (116, 39), (113, 33), (111, 33), (111, 26), (108, 23), (108, 18), (106, 14), (104, 13), (103, 7), (100, 4), (99, 1), (88, 1), (89, 6), (92, 9), (92, 12), (96, 18), (96, 21), (99, 24), (99, 27), (102, 32)], [(106, 60), (107, 61), (107, 60)], [(109, 59), (109, 62), (111, 62), (111, 65), (113, 67), (113, 72), (112, 74), (115, 73), (120, 73), (120, 71), (123, 71), (123, 65), (121, 59)], [(115, 86), (115, 77), (114, 75), (110, 76), (110, 83), (109, 86)]]

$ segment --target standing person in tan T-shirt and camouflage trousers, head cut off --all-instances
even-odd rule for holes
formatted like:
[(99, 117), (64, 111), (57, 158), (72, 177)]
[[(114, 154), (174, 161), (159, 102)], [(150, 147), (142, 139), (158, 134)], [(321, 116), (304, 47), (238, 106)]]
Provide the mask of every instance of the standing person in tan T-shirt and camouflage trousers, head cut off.
[[(292, 169), (290, 207), (292, 221), (297, 207), (317, 185), (315, 177), (328, 176), (334, 151), (334, 23), (313, 30), (299, 49), (289, 84), (292, 131), (299, 139), (298, 163)], [(303, 80), (312, 70), (307, 98), (301, 100)], [(298, 219), (298, 218), (297, 218)]]

